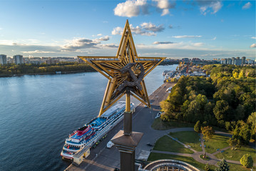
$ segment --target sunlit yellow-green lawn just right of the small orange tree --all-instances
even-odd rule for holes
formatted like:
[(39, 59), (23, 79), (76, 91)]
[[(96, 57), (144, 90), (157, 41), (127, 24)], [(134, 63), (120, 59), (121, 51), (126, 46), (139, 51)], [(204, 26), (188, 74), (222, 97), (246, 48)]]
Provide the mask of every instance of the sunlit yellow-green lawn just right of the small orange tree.
[(217, 149), (222, 149), (228, 146), (227, 140), (229, 138), (222, 135), (213, 135), (210, 140), (205, 139), (205, 151), (209, 153), (216, 152)]

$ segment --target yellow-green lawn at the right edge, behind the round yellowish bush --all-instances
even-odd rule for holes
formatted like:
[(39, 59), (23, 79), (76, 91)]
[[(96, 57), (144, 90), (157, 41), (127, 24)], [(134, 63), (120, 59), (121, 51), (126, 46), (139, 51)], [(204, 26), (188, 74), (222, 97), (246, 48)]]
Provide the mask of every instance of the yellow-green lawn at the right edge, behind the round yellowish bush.
[(218, 153), (215, 156), (220, 159), (222, 159), (224, 157), (226, 160), (240, 161), (242, 156), (246, 155), (246, 154), (251, 155), (253, 162), (256, 163), (256, 155), (255, 155), (256, 150), (249, 146), (242, 146), (238, 150), (231, 150), (231, 148), (230, 148), (230, 149), (225, 150), (225, 152)]

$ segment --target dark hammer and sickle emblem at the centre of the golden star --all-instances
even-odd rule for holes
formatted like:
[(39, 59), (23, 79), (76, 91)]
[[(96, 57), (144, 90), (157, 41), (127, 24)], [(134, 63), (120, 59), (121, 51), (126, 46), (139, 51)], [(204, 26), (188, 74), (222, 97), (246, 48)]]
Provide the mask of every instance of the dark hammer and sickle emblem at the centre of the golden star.
[(144, 76), (145, 70), (144, 70), (143, 65), (141, 63), (138, 63), (138, 65), (140, 66), (140, 74), (138, 75), (138, 78), (137, 78), (137, 76), (135, 76), (135, 73), (133, 73), (133, 71), (131, 69), (136, 64), (137, 63), (128, 63), (125, 67), (123, 67), (120, 70), (121, 73), (128, 72), (130, 77), (133, 79), (133, 82), (131, 82), (131, 81), (123, 81), (121, 86), (118, 87), (119, 91), (123, 90), (123, 88), (134, 87), (134, 86), (137, 86), (138, 90), (142, 90), (142, 86), (140, 85), (140, 82), (143, 81), (143, 76)]

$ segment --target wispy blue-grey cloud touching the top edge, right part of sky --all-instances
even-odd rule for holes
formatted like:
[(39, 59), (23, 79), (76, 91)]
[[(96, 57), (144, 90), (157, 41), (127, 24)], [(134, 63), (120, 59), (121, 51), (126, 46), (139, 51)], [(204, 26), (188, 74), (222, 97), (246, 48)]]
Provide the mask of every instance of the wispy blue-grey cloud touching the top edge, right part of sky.
[(200, 6), (201, 14), (206, 15), (208, 12), (212, 11), (211, 14), (217, 13), (220, 11), (223, 4), (220, 1), (208, 1), (208, 0), (198, 0)]

